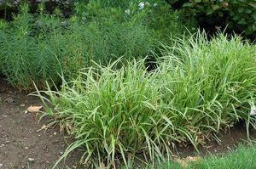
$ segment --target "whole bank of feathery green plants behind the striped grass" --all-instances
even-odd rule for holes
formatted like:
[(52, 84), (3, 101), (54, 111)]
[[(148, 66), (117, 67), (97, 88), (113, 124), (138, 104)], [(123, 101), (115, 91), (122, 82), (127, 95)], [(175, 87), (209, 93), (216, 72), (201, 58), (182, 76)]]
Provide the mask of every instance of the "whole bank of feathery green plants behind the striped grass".
[(186, 29), (183, 14), (166, 3), (75, 6), (68, 20), (58, 9), (45, 14), (43, 4), (32, 15), (26, 4), (12, 22), (0, 21), (0, 71), (13, 86), (31, 90), (35, 82), (44, 88), (45, 81), (59, 83), (61, 73), (71, 78), (92, 61), (143, 58), (154, 51), (154, 42), (182, 36)]

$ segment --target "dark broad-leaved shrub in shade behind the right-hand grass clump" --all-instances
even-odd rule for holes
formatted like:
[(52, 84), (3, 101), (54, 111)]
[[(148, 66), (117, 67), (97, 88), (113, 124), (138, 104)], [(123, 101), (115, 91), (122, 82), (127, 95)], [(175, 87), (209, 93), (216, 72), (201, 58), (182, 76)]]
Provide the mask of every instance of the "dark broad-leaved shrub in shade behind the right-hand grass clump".
[[(177, 3), (178, 1), (171, 0), (170, 2)], [(207, 14), (208, 17), (217, 17), (228, 28), (239, 33), (244, 31), (245, 35), (252, 37), (256, 33), (256, 3), (254, 0), (192, 0), (183, 3), (183, 8), (189, 9), (193, 14), (202, 13)], [(207, 20), (207, 17), (204, 20)]]

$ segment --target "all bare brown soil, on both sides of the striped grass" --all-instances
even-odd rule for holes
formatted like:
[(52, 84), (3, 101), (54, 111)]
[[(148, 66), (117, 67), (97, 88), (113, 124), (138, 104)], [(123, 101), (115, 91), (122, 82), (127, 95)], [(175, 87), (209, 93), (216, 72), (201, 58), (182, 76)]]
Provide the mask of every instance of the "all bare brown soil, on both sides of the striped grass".
[[(16, 91), (0, 78), (0, 169), (50, 169), (71, 143), (72, 138), (61, 135), (59, 128), (40, 130), (47, 119), (38, 121), (37, 113), (25, 113), (31, 105), (41, 105), (40, 100)], [(255, 130), (250, 134), (256, 140)], [(236, 149), (237, 144), (247, 140), (244, 123), (241, 121), (236, 127), (218, 133), (218, 138), (220, 142), (209, 141), (207, 146), (200, 146), (201, 155), (221, 155)], [(178, 144), (174, 154), (197, 155), (192, 146)], [(83, 168), (77, 164), (81, 155), (81, 149), (76, 150), (58, 168)]]

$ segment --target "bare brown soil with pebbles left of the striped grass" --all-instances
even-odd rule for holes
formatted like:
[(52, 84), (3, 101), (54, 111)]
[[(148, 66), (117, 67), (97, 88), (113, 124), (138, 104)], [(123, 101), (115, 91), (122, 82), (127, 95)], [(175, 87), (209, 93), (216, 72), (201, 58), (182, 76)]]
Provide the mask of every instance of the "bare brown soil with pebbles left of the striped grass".
[[(25, 113), (31, 105), (41, 105), (40, 100), (15, 91), (0, 78), (1, 169), (48, 169), (67, 149), (70, 138), (61, 136), (58, 128), (38, 131), (47, 121), (38, 122), (36, 113)], [(75, 152), (58, 167), (74, 168), (80, 156)]]

